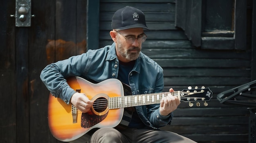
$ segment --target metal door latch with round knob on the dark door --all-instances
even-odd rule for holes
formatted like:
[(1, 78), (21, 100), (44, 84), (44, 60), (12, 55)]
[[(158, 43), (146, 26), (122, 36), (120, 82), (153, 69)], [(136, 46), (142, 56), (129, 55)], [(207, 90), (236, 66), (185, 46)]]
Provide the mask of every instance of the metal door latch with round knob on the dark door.
[(10, 17), (15, 17), (15, 25), (20, 27), (31, 26), (31, 0), (16, 0), (16, 12), (15, 15), (10, 15)]

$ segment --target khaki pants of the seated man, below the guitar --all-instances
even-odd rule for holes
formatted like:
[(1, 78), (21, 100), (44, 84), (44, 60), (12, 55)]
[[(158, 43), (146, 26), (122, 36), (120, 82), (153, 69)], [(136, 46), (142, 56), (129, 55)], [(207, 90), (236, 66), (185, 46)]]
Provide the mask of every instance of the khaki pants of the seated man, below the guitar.
[(101, 128), (92, 134), (90, 143), (196, 143), (165, 130)]

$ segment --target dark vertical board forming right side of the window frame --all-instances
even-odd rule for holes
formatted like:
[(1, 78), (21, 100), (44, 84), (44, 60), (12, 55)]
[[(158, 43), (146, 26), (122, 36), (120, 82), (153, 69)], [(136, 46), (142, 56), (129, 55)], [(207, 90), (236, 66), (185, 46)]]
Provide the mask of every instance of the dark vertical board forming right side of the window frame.
[(235, 49), (246, 50), (247, 43), (247, 1), (236, 0)]

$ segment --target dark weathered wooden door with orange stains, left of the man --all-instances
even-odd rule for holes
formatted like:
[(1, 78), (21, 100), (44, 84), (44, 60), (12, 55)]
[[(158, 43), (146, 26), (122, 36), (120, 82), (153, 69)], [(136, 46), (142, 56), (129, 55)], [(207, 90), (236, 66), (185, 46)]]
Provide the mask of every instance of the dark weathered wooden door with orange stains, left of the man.
[(16, 27), (15, 0), (1, 1), (1, 143), (56, 143), (49, 131), (49, 91), (40, 72), (86, 52), (87, 0), (32, 0), (31, 26)]

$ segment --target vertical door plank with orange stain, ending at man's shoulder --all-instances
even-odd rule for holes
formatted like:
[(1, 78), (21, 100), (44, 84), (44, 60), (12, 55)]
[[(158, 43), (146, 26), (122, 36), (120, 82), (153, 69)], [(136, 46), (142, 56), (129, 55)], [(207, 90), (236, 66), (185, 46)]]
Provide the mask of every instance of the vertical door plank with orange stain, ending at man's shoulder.
[(56, 0), (55, 61), (76, 52), (76, 1)]

